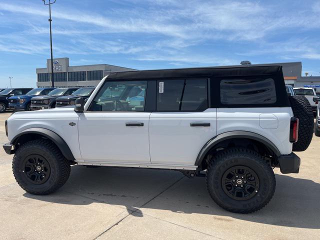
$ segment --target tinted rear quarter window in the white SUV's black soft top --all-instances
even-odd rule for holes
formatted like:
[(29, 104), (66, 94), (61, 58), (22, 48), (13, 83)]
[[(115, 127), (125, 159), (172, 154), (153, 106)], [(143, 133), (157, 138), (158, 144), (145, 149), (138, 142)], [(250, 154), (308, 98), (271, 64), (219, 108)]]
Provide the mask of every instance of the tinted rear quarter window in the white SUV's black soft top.
[(222, 79), (222, 104), (270, 104), (276, 102), (274, 80), (268, 77)]

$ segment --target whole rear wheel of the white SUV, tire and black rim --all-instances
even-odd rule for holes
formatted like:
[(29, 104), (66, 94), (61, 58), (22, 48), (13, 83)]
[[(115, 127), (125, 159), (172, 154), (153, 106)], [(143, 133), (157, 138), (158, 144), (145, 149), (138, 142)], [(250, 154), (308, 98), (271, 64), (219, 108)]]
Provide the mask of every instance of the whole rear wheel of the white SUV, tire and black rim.
[(255, 151), (228, 148), (218, 152), (206, 170), (206, 186), (220, 207), (237, 213), (261, 209), (273, 196), (271, 167)]

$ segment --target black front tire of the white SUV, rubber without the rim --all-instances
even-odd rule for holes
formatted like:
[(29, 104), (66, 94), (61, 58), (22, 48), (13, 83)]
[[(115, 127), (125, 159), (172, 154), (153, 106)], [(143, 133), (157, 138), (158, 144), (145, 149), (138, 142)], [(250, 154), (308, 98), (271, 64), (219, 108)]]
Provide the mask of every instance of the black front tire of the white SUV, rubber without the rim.
[[(31, 154), (40, 155), (49, 163), (50, 174), (44, 183), (30, 182), (26, 171), (23, 170), (23, 161)], [(16, 149), (12, 170), (16, 182), (25, 191), (35, 195), (46, 195), (54, 192), (66, 182), (70, 174), (70, 164), (51, 141), (37, 139), (28, 141)]]

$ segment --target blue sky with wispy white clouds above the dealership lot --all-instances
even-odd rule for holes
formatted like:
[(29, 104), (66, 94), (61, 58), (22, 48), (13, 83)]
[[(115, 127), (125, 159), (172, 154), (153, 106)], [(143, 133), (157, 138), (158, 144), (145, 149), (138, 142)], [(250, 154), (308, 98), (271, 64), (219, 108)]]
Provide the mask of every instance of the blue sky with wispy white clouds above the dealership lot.
[[(320, 75), (318, 0), (56, 0), (53, 57), (136, 69), (302, 61)], [(35, 87), (48, 7), (0, 0), (0, 87)]]

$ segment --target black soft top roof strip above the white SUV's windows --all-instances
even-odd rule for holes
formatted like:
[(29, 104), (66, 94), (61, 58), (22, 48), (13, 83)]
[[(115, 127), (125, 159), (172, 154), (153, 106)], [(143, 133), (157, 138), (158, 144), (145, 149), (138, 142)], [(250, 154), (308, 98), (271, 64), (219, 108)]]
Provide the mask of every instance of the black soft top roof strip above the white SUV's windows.
[(107, 77), (111, 79), (162, 78), (162, 77), (201, 77), (201, 76), (254, 76), (282, 74), (282, 66), (218, 66), (199, 68), (179, 68), (162, 70), (118, 71)]

